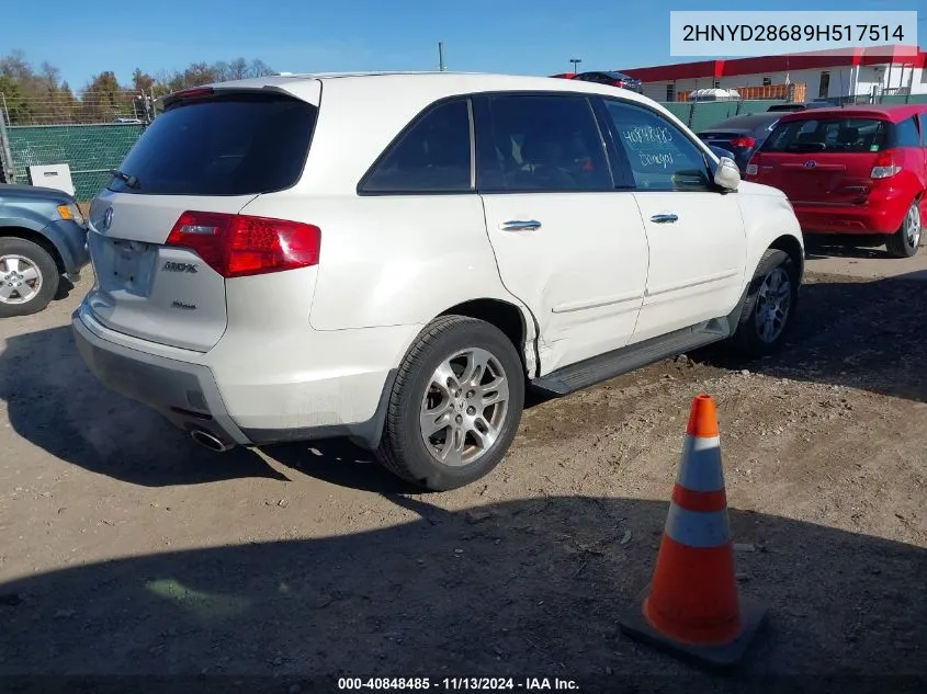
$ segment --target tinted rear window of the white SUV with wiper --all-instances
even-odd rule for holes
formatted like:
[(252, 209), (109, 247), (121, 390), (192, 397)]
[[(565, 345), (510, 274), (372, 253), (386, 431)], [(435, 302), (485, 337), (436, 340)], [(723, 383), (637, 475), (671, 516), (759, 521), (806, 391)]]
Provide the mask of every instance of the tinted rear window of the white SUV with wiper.
[(317, 109), (282, 95), (222, 95), (168, 109), (109, 185), (140, 195), (251, 195), (291, 187), (309, 149)]

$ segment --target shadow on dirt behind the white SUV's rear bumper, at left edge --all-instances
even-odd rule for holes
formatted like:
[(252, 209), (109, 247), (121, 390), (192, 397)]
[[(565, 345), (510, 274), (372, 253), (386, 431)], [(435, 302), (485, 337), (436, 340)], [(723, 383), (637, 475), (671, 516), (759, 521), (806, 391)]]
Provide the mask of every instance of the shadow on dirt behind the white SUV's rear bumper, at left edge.
[(7, 339), (0, 398), (20, 436), (116, 479), (146, 487), (285, 479), (250, 451), (200, 447), (156, 412), (101, 386), (83, 365), (70, 326)]

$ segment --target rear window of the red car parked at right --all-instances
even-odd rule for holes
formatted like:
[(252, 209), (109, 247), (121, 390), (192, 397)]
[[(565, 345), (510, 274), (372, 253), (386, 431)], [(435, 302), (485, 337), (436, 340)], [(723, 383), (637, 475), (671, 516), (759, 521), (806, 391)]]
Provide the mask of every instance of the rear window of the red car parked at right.
[(873, 152), (891, 146), (891, 126), (875, 118), (821, 118), (780, 123), (762, 146), (781, 152)]

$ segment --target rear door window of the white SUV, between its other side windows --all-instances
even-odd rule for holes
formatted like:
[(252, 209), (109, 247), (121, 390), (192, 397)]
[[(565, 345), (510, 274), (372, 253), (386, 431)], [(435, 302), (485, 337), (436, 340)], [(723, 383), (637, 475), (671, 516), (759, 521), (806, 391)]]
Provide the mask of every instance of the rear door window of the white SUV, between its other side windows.
[(481, 143), (481, 191), (611, 190), (611, 172), (585, 96), (505, 94), (487, 100), (490, 143)]

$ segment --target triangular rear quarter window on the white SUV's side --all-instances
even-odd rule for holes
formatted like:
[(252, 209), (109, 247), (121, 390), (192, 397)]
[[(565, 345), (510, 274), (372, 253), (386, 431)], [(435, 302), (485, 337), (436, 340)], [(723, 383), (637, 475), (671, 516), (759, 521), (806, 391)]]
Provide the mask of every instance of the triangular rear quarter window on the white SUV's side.
[(470, 109), (463, 99), (427, 111), (361, 181), (365, 193), (471, 190)]

